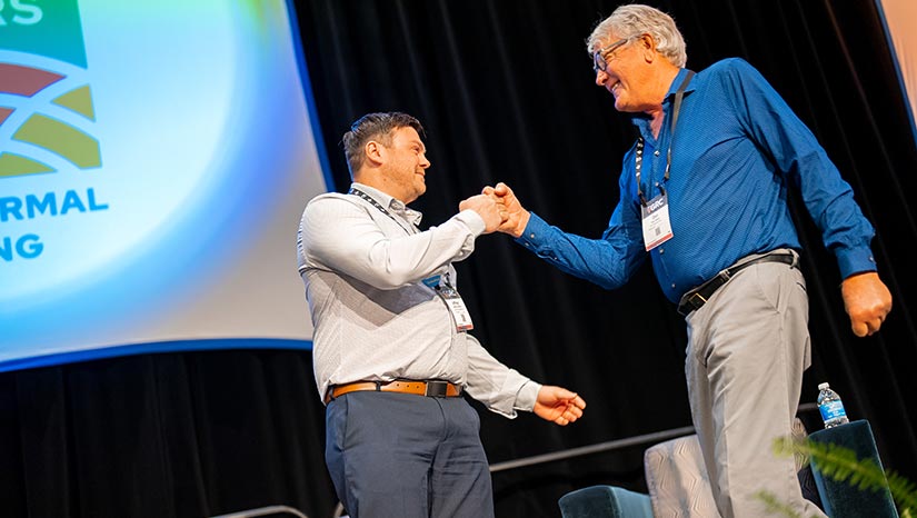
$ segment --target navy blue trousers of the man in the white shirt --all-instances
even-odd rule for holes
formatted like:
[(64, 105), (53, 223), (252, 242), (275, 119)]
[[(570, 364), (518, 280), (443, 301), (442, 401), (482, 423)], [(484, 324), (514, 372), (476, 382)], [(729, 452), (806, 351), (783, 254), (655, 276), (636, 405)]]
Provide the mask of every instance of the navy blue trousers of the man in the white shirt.
[(326, 409), (325, 461), (352, 518), (488, 518), (479, 432), (461, 397), (350, 392)]

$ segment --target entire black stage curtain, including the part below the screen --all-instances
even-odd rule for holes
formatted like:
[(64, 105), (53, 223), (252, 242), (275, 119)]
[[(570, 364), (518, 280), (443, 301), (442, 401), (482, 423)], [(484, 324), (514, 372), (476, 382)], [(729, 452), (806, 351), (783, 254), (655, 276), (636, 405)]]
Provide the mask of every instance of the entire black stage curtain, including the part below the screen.
[[(319, 133), (338, 190), (340, 136), (357, 117), (421, 119), (432, 168), (416, 208), (436, 225), (484, 185), (506, 181), (527, 207), (598, 236), (617, 202), (632, 129), (592, 84), (584, 40), (617, 2), (295, 1)], [(886, 467), (917, 480), (914, 293), (917, 149), (871, 0), (660, 1), (701, 70), (738, 56), (805, 120), (874, 222), (895, 309), (857, 339), (834, 258), (804, 210), (817, 382), (869, 419)], [(303, 71), (305, 72), (305, 71)], [(303, 205), (307, 200), (303, 200)], [(291, 238), (292, 239), (292, 238)], [(685, 326), (652, 272), (605, 291), (504, 236), (458, 265), (477, 337), (532, 378), (578, 390), (586, 417), (559, 428), (481, 410), (492, 462), (690, 425)], [(817, 415), (804, 415), (810, 429)], [(144, 355), (0, 375), (0, 515), (203, 517), (283, 504), (331, 516), (323, 408), (308, 351)], [(559, 516), (557, 498), (590, 484), (645, 489), (635, 446), (494, 474), (499, 517)]]

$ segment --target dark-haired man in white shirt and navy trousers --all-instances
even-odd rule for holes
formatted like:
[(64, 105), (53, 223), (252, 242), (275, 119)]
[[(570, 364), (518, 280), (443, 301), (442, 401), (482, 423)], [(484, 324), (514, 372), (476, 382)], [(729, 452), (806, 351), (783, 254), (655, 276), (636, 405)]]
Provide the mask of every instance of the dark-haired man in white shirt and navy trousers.
[(477, 412), (464, 394), (515, 418), (565, 426), (586, 402), (500, 363), (474, 328), (452, 262), (497, 229), (505, 208), (472, 196), (421, 231), (408, 203), (427, 190), (423, 128), (406, 113), (369, 113), (343, 136), (353, 183), (309, 201), (299, 273), (326, 408), (325, 460), (352, 518), (494, 516)]

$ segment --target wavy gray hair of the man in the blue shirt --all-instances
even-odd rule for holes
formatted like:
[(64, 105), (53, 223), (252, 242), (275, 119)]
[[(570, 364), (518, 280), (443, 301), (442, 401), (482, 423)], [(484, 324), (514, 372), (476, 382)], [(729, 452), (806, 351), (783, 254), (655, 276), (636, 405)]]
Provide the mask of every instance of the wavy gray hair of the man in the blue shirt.
[(586, 40), (586, 51), (591, 56), (599, 50), (601, 44), (599, 40), (608, 39), (612, 32), (620, 38), (650, 34), (656, 41), (656, 50), (671, 64), (684, 68), (688, 62), (685, 38), (675, 26), (675, 20), (656, 8), (639, 3), (618, 7), (589, 34)]

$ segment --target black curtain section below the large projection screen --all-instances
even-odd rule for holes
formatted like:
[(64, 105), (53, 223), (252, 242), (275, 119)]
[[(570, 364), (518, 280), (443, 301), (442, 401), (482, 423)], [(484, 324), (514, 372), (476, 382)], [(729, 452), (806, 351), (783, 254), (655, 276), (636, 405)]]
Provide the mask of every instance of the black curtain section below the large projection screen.
[(309, 351), (142, 355), (0, 375), (0, 516), (330, 517)]

